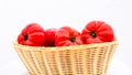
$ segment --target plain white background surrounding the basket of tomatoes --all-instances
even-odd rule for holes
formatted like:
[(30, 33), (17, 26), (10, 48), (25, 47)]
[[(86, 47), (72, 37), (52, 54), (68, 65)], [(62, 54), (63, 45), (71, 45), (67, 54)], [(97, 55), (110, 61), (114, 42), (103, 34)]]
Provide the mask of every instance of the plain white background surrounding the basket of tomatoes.
[(1, 75), (26, 75), (12, 45), (26, 24), (36, 22), (45, 30), (69, 25), (81, 31), (92, 20), (109, 23), (120, 42), (110, 74), (132, 75), (131, 7), (131, 0), (0, 0)]

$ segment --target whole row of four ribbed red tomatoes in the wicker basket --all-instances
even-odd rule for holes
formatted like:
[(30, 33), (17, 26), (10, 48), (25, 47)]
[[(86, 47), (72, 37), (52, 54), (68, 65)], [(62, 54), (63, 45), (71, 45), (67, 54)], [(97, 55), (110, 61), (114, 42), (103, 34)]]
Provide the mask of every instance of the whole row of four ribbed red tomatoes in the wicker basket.
[(113, 40), (113, 29), (103, 21), (90, 21), (81, 32), (70, 26), (44, 30), (37, 23), (30, 23), (18, 36), (19, 44), (29, 46), (70, 46)]

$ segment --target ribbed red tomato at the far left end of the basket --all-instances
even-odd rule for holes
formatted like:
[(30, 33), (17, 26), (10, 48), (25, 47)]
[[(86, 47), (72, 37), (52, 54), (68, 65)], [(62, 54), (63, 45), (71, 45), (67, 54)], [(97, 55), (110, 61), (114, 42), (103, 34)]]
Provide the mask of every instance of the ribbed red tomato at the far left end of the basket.
[(37, 23), (28, 24), (18, 36), (18, 43), (23, 45), (43, 46), (44, 42), (44, 29)]

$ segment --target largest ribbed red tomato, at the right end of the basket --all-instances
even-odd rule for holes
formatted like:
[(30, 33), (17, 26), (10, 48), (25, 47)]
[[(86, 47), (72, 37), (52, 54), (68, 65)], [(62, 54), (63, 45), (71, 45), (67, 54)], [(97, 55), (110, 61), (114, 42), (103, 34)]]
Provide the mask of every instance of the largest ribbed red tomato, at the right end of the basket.
[(114, 40), (114, 33), (108, 23), (91, 21), (82, 30), (81, 39), (86, 44), (111, 42)]

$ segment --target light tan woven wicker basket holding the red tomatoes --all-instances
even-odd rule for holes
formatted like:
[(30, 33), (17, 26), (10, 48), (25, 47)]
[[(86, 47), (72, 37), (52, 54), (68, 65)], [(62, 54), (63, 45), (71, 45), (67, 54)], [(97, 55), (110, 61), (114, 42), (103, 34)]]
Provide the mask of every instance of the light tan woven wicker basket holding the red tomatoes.
[(118, 41), (99, 44), (38, 47), (13, 42), (31, 75), (107, 75)]

